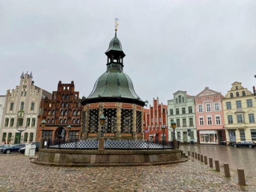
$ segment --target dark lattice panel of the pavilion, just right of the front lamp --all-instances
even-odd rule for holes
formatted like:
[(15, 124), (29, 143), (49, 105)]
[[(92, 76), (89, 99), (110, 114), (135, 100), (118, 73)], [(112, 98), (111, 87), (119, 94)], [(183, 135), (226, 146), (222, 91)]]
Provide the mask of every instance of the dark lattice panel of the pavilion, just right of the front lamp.
[(105, 133), (115, 133), (116, 132), (116, 109), (104, 109), (105, 122), (103, 125), (103, 131)]

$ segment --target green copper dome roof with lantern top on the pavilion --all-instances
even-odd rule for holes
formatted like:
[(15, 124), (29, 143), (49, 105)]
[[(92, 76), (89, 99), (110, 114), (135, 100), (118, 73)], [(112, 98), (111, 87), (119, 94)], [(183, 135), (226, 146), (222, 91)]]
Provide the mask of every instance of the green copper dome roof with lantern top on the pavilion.
[(144, 101), (134, 91), (132, 80), (123, 73), (122, 61), (125, 54), (116, 34), (105, 54), (108, 56), (106, 72), (97, 79), (93, 91), (83, 100), (83, 105), (95, 102), (127, 102), (144, 106)]

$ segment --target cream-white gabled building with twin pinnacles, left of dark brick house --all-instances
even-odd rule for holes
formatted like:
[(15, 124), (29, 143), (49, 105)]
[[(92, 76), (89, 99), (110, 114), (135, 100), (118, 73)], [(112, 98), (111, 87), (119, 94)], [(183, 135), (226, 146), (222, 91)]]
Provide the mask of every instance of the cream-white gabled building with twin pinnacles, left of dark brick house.
[(19, 86), (7, 90), (0, 124), (1, 143), (34, 142), (41, 99), (51, 93), (34, 85), (30, 75), (22, 73)]

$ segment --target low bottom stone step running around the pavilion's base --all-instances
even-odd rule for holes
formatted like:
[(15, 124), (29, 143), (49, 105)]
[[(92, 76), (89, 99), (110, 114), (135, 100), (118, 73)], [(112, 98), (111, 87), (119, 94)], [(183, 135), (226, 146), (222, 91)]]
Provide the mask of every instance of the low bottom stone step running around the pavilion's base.
[(45, 165), (45, 166), (55, 166), (55, 167), (122, 167), (122, 166), (152, 166), (152, 165), (169, 165), (186, 162), (187, 158), (181, 158), (177, 161), (167, 161), (167, 162), (150, 162), (150, 163), (49, 163), (37, 161), (33, 159), (30, 163), (36, 165)]

